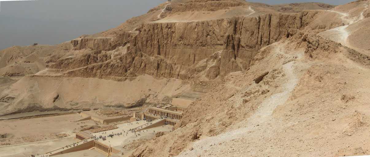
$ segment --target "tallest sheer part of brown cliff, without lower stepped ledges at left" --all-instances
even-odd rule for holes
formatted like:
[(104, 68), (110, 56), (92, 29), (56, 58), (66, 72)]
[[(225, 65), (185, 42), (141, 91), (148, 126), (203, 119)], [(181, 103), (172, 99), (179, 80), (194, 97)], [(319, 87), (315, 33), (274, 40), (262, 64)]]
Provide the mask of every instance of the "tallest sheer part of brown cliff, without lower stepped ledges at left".
[(187, 70), (179, 67), (194, 65), (211, 53), (223, 50), (219, 65), (209, 68), (212, 72), (208, 72), (207, 77), (212, 79), (248, 69), (258, 49), (279, 41), (290, 28), (299, 29), (302, 16), (265, 14), (190, 23), (145, 24), (138, 29), (139, 34), (131, 41), (131, 46), (134, 46), (132, 51), (159, 55), (171, 61), (175, 72)]

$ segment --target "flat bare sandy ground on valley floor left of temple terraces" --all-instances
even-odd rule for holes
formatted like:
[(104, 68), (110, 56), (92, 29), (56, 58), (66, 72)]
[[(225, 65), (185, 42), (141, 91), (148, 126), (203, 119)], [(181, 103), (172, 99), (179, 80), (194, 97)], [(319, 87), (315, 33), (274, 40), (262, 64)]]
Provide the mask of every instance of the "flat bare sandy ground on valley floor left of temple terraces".
[(74, 132), (79, 131), (81, 126), (95, 125), (90, 120), (74, 122), (80, 118), (78, 114), (70, 114), (32, 119), (1, 120), (0, 134), (7, 134), (7, 138), (0, 139), (0, 143), (20, 144), (53, 140), (59, 138), (55, 136), (57, 134), (66, 133), (74, 136)]

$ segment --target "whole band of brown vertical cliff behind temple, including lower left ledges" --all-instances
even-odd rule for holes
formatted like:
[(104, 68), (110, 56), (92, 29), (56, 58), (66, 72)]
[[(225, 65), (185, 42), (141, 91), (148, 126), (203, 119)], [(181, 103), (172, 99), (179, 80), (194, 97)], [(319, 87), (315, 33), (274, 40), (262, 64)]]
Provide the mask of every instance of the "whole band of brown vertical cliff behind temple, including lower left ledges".
[[(206, 77), (214, 79), (218, 75), (248, 69), (251, 59), (260, 48), (286, 37), (289, 29), (309, 25), (316, 14), (264, 14), (184, 23), (147, 23), (136, 29), (138, 34), (123, 33), (117, 38), (74, 40), (71, 42), (77, 50), (90, 48), (110, 51), (129, 42), (129, 51), (115, 58), (102, 53), (92, 61), (86, 61), (91, 58), (86, 56), (82, 58), (84, 62), (98, 64), (74, 69), (67, 74), (80, 77), (134, 77), (148, 74), (157, 78), (187, 80), (207, 70)], [(220, 50), (221, 58), (214, 65), (192, 69), (192, 66)]]

